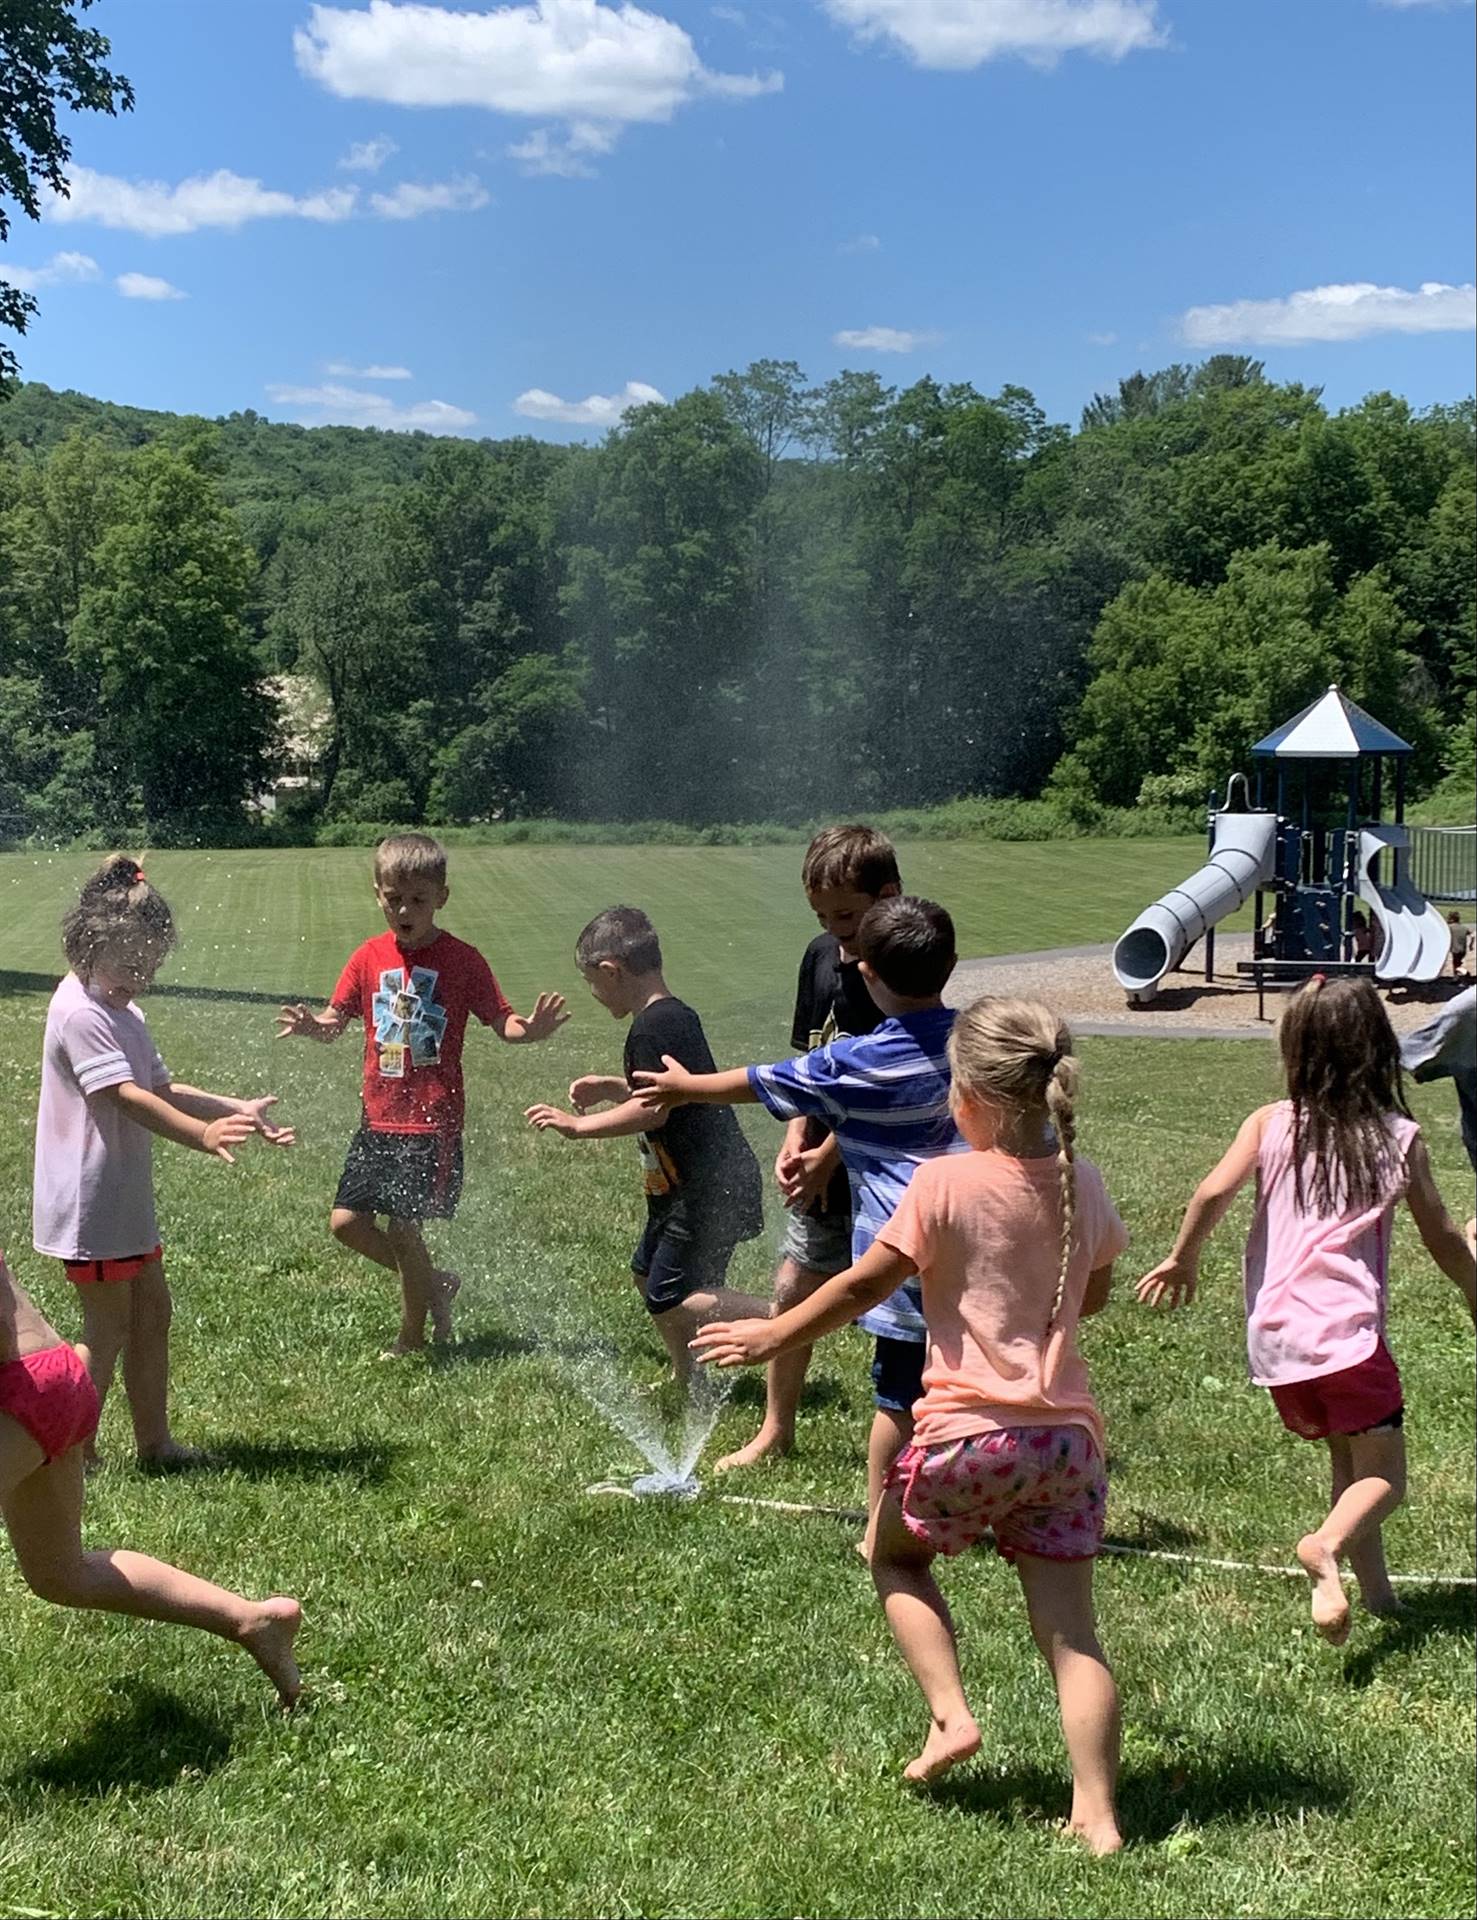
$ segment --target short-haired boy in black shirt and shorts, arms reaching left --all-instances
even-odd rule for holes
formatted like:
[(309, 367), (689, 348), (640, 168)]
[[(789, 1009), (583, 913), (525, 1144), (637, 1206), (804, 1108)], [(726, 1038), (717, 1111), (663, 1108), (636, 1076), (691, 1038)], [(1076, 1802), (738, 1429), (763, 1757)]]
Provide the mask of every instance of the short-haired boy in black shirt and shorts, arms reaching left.
[[(599, 1004), (615, 1020), (630, 1020), (624, 1073), (576, 1079), (569, 1089), (574, 1114), (530, 1106), (526, 1117), (540, 1133), (567, 1140), (636, 1139), (647, 1217), (632, 1277), (686, 1388), (688, 1342), (705, 1319), (766, 1311), (763, 1300), (726, 1284), (734, 1248), (753, 1240), (764, 1223), (759, 1162), (732, 1114), (666, 1117), (630, 1096), (632, 1073), (665, 1058), (713, 1071), (703, 1021), (663, 979), (661, 943), (647, 916), (636, 906), (595, 914), (574, 947), (574, 964)], [(609, 1112), (592, 1114), (593, 1106)]]

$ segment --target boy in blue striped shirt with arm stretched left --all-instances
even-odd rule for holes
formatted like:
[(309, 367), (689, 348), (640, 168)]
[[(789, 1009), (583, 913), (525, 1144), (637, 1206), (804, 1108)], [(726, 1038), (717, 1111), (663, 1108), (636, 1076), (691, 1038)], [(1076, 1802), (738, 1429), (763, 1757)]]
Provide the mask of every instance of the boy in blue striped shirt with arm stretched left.
[[(964, 1152), (949, 1117), (945, 1044), (955, 1023), (943, 987), (955, 970), (955, 924), (932, 900), (878, 900), (857, 925), (866, 991), (884, 1014), (874, 1033), (832, 1041), (801, 1060), (732, 1073), (636, 1073), (657, 1104), (759, 1100), (776, 1119), (824, 1119), (851, 1179), (851, 1258), (860, 1260), (891, 1219), (914, 1167)], [(674, 1062), (668, 1062), (674, 1066)], [(916, 1283), (870, 1304), (860, 1325), (874, 1334), (876, 1413), (866, 1446), (866, 1507), (876, 1507), (887, 1467), (912, 1438), (912, 1404), (924, 1390), (924, 1325)]]

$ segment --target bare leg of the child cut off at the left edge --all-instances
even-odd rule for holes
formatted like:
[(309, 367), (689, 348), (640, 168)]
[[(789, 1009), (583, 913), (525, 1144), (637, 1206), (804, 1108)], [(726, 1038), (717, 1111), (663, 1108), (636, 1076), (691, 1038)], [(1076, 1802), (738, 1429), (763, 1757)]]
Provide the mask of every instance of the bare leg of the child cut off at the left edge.
[(296, 1599), (242, 1599), (179, 1567), (127, 1549), (83, 1551), (83, 1450), (42, 1463), (31, 1434), (0, 1413), (0, 1509), (27, 1586), (58, 1607), (96, 1607), (198, 1626), (246, 1647), (284, 1707), (302, 1690), (292, 1642)]

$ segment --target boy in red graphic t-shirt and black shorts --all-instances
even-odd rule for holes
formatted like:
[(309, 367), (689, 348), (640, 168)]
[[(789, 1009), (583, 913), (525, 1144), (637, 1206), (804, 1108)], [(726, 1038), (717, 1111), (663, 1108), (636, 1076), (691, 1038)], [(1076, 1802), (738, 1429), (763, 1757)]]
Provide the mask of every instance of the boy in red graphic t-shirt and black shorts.
[(390, 931), (350, 954), (323, 1014), (284, 1006), (277, 1037), (336, 1041), (351, 1020), (365, 1023), (363, 1114), (328, 1229), (400, 1275), (400, 1336), (384, 1356), (396, 1359), (424, 1348), (426, 1317), (436, 1340), (451, 1338), (461, 1279), (432, 1265), (421, 1229), (428, 1219), (451, 1219), (461, 1198), (467, 1016), (519, 1044), (547, 1039), (569, 1014), (557, 993), (542, 993), (526, 1020), (515, 1014), (482, 954), (436, 925), (449, 889), (446, 849), (430, 835), (380, 841), (375, 899)]

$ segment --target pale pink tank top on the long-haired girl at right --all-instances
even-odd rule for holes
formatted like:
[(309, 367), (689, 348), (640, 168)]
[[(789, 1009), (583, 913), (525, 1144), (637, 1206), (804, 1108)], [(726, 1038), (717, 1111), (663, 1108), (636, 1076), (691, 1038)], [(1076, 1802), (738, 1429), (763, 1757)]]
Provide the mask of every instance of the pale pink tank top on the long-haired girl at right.
[(1258, 1386), (1291, 1386), (1368, 1359), (1385, 1332), (1391, 1215), (1406, 1190), (1406, 1154), (1419, 1133), (1389, 1116), (1398, 1171), (1389, 1194), (1362, 1212), (1318, 1213), (1293, 1185), (1293, 1102), (1262, 1127), (1256, 1213), (1247, 1240), (1247, 1357)]

